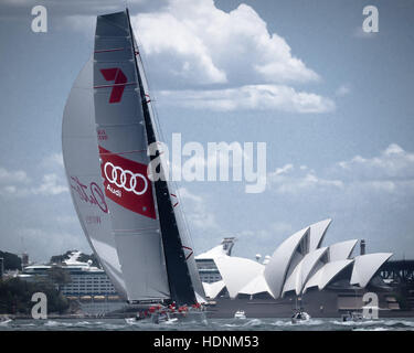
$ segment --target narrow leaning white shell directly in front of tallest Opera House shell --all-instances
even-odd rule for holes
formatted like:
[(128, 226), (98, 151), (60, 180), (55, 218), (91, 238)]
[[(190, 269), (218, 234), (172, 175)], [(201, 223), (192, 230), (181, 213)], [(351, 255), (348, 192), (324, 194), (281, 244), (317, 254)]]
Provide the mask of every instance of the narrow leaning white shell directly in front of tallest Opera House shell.
[(312, 269), (327, 250), (328, 248), (323, 247), (307, 254), (287, 278), (282, 296), (290, 290), (295, 290), (296, 295), (299, 296)]

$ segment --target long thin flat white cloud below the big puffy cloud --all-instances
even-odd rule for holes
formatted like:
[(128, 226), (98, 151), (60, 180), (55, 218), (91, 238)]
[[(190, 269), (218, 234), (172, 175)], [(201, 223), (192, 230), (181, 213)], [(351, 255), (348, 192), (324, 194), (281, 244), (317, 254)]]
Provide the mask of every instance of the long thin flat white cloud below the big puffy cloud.
[(329, 98), (278, 85), (247, 85), (210, 90), (161, 90), (159, 100), (164, 104), (219, 111), (276, 109), (307, 114), (329, 113), (336, 107)]

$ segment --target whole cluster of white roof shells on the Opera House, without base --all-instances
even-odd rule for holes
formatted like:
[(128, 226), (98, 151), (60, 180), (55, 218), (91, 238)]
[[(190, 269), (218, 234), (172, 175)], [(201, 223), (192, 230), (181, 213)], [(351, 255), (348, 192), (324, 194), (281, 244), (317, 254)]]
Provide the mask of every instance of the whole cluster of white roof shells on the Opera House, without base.
[(203, 284), (206, 296), (215, 298), (224, 287), (231, 298), (238, 293), (268, 292), (277, 299), (287, 291), (295, 291), (299, 296), (311, 287), (325, 289), (352, 264), (350, 284), (365, 287), (392, 254), (370, 254), (352, 259), (350, 256), (358, 239), (321, 248), (331, 222), (329, 218), (315, 223), (288, 237), (276, 248), (266, 266), (251, 259), (227, 256), (222, 245), (201, 254), (198, 258), (214, 259), (223, 278), (219, 282)]

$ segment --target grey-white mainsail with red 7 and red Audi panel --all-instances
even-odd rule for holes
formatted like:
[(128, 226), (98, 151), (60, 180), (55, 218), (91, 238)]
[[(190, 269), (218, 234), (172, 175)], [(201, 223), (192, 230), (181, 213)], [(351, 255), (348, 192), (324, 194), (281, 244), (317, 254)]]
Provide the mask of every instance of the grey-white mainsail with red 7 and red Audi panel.
[(95, 122), (112, 227), (128, 299), (169, 298), (149, 157), (127, 17), (97, 18)]

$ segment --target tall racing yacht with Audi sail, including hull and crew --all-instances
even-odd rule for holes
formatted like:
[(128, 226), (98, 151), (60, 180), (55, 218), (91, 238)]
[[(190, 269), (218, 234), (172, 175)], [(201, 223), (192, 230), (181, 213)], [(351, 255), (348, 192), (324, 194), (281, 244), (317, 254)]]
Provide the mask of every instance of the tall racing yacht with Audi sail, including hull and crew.
[(179, 195), (163, 178), (160, 151), (147, 153), (160, 141), (159, 128), (128, 10), (98, 15), (94, 42), (62, 125), (64, 167), (85, 236), (139, 318), (202, 311)]

